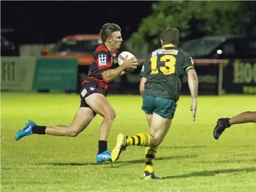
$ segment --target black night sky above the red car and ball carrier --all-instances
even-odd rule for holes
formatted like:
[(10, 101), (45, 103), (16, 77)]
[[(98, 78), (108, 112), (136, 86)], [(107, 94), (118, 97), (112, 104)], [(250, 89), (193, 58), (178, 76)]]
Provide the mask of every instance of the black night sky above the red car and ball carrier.
[(15, 29), (9, 40), (20, 44), (51, 43), (69, 34), (98, 34), (104, 23), (116, 23), (127, 39), (151, 14), (153, 2), (1, 1), (1, 29)]

